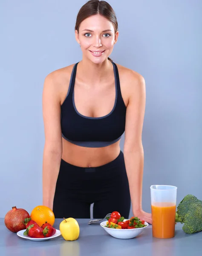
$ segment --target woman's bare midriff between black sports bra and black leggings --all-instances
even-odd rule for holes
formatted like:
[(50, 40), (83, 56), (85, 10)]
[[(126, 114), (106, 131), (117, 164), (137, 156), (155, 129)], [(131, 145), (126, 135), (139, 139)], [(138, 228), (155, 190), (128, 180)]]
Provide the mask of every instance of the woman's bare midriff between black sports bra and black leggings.
[(97, 167), (110, 163), (120, 153), (120, 140), (112, 145), (101, 148), (81, 147), (62, 139), (62, 159), (79, 167)]

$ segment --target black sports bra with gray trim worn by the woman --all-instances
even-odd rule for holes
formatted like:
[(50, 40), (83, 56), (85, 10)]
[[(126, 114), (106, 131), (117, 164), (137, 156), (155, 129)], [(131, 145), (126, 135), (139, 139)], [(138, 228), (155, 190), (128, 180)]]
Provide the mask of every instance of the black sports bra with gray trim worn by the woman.
[(61, 105), (62, 137), (69, 142), (90, 148), (111, 145), (121, 139), (125, 131), (126, 106), (121, 96), (118, 68), (113, 63), (115, 75), (115, 103), (113, 110), (105, 116), (89, 117), (80, 114), (74, 101), (74, 84), (77, 65), (73, 67), (69, 90)]

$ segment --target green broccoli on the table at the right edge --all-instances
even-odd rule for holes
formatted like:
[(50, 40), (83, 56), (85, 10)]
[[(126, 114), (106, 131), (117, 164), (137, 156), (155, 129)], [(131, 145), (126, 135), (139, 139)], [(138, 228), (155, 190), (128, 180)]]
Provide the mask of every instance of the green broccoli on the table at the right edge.
[(184, 223), (185, 233), (202, 231), (202, 201), (194, 195), (186, 195), (177, 207), (176, 222)]

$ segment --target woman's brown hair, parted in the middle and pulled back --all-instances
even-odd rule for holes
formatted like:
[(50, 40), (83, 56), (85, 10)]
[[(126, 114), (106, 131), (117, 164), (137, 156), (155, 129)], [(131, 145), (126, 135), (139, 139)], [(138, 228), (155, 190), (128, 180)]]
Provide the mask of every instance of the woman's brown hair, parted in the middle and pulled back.
[[(78, 30), (79, 32), (79, 26), (81, 22), (86, 18), (96, 14), (100, 14), (103, 17), (107, 18), (107, 20), (109, 20), (113, 24), (115, 33), (117, 32), (118, 22), (116, 20), (116, 15), (112, 6), (110, 6), (110, 4), (106, 1), (99, 0), (89, 0), (81, 7), (76, 18), (75, 30)], [(110, 59), (109, 57), (108, 59), (112, 61), (112, 59)]]

